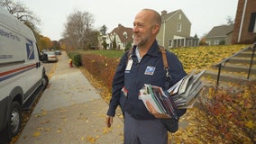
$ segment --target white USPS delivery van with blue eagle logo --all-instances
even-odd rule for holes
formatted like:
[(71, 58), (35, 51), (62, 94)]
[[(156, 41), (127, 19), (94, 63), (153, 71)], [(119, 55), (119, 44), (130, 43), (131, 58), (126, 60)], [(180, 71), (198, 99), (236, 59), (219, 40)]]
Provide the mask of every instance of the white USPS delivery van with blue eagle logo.
[(11, 139), (22, 110), (48, 85), (32, 30), (0, 6), (0, 131)]

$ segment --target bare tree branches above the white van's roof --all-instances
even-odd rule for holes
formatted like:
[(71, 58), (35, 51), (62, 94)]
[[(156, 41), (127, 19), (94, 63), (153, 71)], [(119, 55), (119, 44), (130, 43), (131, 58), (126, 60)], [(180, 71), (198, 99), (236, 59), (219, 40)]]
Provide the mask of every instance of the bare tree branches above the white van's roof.
[(15, 2), (14, 0), (1, 0), (0, 5), (13, 14), (18, 20), (26, 24), (32, 29), (32, 31), (39, 32), (37, 24), (41, 23), (41, 20), (32, 13), (23, 3)]

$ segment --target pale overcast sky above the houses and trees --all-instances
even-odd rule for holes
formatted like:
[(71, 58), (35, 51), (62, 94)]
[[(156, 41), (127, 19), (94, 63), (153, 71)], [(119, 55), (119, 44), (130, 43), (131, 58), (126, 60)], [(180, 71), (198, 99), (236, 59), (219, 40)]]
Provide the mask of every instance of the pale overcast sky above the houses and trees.
[(191, 25), (191, 36), (200, 38), (214, 26), (226, 24), (226, 18), (235, 19), (238, 0), (20, 0), (41, 19), (39, 28), (50, 40), (61, 39), (64, 24), (75, 10), (94, 16), (94, 26), (102, 25), (112, 31), (121, 23), (133, 28), (133, 19), (143, 8), (168, 13), (181, 9)]

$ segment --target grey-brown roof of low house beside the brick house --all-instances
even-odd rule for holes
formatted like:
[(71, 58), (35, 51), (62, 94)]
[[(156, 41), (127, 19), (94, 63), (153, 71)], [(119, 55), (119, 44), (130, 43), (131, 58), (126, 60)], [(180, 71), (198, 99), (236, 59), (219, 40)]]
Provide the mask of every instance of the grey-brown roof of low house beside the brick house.
[(211, 31), (209, 31), (206, 38), (225, 37), (231, 31), (233, 31), (233, 24), (215, 26)]

